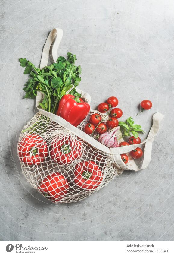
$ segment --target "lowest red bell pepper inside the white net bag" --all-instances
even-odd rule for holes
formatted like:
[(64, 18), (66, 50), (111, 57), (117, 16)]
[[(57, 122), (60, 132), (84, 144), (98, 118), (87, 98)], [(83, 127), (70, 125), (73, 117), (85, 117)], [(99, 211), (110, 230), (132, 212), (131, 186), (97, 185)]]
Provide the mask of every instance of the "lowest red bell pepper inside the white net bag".
[(59, 201), (68, 192), (69, 184), (64, 175), (53, 172), (47, 175), (38, 186), (39, 191), (45, 193), (46, 197)]

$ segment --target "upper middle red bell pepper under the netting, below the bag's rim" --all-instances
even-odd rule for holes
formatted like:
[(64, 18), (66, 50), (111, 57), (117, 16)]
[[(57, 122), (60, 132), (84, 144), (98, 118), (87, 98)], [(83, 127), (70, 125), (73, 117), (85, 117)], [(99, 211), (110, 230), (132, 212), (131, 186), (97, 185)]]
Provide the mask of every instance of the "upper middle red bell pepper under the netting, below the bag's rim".
[(50, 156), (59, 164), (68, 164), (82, 156), (82, 143), (72, 139), (55, 139), (51, 145)]

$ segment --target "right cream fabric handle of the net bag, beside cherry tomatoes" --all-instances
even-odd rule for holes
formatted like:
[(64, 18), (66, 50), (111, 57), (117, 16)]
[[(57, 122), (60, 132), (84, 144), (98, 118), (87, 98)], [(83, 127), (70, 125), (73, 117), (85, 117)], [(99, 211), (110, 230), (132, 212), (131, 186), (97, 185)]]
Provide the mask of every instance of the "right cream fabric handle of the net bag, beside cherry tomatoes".
[[(118, 147), (118, 148), (111, 148), (110, 151), (112, 152), (115, 160), (117, 163), (120, 163), (120, 167), (123, 169), (128, 169), (128, 170), (132, 170), (134, 169), (135, 171), (141, 170), (141, 169), (145, 169), (148, 164), (151, 161), (151, 153), (152, 153), (152, 143), (154, 141), (154, 137), (157, 135), (159, 129), (160, 129), (160, 122), (163, 120), (164, 115), (160, 114), (159, 112), (155, 113), (153, 115), (153, 125), (151, 127), (151, 130), (148, 134), (148, 137), (146, 140), (144, 140), (143, 142), (139, 143), (139, 144), (135, 144), (135, 145), (130, 145), (130, 146), (125, 146), (125, 147)], [(141, 166), (141, 168), (138, 168), (138, 166), (135, 164), (135, 162), (132, 160), (130, 161), (132, 164), (132, 167), (126, 167), (125, 164), (123, 163), (123, 161), (121, 160), (120, 154), (124, 154), (124, 153), (128, 153), (131, 150), (134, 150), (135, 148), (143, 145), (145, 143), (145, 147), (144, 147), (144, 160), (143, 160), (143, 164)]]

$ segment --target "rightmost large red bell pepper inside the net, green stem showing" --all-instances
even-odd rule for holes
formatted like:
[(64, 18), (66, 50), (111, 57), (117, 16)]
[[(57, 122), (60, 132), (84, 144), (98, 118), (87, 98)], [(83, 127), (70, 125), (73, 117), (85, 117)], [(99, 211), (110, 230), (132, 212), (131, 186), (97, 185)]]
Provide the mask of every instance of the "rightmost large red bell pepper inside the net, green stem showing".
[(74, 175), (74, 183), (88, 190), (96, 189), (103, 179), (99, 166), (93, 161), (82, 161), (76, 164)]

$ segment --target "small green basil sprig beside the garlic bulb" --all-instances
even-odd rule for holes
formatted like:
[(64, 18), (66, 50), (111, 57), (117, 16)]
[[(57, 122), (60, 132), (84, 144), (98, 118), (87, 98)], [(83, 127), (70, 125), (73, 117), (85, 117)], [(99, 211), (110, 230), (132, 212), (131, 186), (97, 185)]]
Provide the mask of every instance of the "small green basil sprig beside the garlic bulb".
[[(134, 125), (134, 120), (132, 117), (129, 117), (126, 122), (118, 123), (122, 132), (122, 137), (134, 136), (135, 139), (138, 138), (138, 132), (144, 132), (141, 129), (141, 125)], [(131, 135), (132, 133), (132, 135)]]

